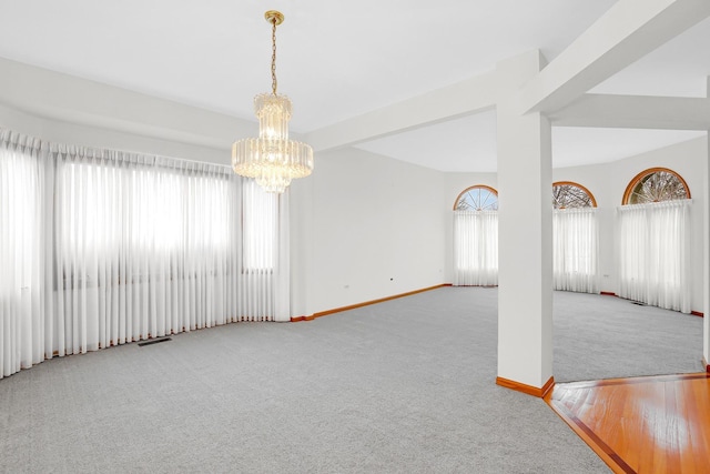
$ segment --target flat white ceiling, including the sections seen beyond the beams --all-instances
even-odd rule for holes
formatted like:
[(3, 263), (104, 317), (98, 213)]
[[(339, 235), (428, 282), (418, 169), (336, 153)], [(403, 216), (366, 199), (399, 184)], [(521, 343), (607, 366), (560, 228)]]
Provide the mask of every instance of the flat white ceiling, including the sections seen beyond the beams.
[[(539, 48), (552, 60), (613, 0), (0, 0), (0, 57), (254, 120), (267, 92), (268, 9), (280, 92), (310, 132)], [(710, 21), (594, 92), (704, 97)], [(555, 129), (556, 165), (611, 161), (698, 132)], [(237, 137), (235, 137), (236, 139)], [(363, 143), (444, 171), (495, 170), (495, 112)]]

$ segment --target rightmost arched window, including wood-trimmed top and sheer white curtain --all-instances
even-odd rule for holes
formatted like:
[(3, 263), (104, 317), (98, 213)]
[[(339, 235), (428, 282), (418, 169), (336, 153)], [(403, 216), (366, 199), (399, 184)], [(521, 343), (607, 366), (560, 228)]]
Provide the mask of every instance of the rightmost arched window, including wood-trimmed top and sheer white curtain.
[(651, 168), (626, 188), (617, 210), (619, 296), (690, 312), (690, 190), (674, 171)]

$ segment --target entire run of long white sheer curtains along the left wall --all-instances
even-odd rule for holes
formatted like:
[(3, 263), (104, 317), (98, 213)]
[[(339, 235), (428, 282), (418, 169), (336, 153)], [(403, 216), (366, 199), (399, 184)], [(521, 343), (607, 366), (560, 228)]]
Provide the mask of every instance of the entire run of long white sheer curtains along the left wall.
[(0, 135), (0, 377), (53, 354), (288, 321), (288, 202), (226, 167)]

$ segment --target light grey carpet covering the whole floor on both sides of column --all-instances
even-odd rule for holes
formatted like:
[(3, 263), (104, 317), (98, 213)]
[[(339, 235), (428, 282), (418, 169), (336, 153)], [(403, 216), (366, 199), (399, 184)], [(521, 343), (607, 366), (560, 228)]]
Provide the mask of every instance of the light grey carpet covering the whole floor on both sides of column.
[[(541, 400), (495, 385), (496, 301), (495, 289), (445, 288), (45, 362), (0, 381), (0, 472), (608, 472)], [(612, 297), (556, 294), (560, 380), (617, 376), (620, 365), (662, 372), (599, 341), (598, 331), (628, 341), (621, 327), (567, 315), (601, 301), (626, 311)], [(674, 331), (677, 313), (663, 315)], [(560, 346), (565, 331), (576, 335)], [(655, 356), (640, 351), (629, 355)]]

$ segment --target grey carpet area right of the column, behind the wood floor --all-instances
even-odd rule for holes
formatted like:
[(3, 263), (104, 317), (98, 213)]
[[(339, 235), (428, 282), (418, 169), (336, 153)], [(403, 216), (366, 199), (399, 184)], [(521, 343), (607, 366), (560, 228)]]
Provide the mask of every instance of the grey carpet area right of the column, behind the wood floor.
[(557, 382), (704, 371), (702, 317), (564, 291), (554, 307)]

